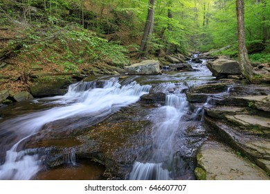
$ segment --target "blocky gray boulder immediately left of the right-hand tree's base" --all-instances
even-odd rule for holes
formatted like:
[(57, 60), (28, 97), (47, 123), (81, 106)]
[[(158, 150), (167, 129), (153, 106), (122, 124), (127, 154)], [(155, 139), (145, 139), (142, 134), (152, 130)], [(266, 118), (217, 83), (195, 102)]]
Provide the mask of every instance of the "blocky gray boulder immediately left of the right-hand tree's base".
[(241, 74), (238, 62), (224, 57), (219, 57), (217, 60), (209, 61), (206, 65), (213, 73), (213, 76), (217, 79), (227, 78), (229, 75)]

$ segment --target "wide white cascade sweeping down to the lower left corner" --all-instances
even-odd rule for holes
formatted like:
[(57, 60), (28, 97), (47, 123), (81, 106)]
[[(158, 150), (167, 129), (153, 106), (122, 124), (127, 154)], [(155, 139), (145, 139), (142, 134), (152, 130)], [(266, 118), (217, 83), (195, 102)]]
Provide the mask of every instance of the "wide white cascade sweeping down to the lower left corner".
[[(53, 102), (55, 104), (66, 104), (65, 106), (26, 114), (0, 123), (0, 130), (17, 136), (12, 148), (6, 150), (6, 160), (0, 166), (0, 179), (31, 179), (40, 170), (41, 162), (37, 155), (28, 155), (27, 150), (17, 149), (19, 144), (37, 133), (46, 123), (75, 116), (106, 116), (114, 109), (135, 103), (140, 96), (149, 92), (151, 86), (132, 82), (121, 87), (117, 80), (111, 79), (106, 81), (102, 88), (95, 87), (94, 82), (71, 85), (64, 96), (46, 98), (56, 100)], [(10, 143), (10, 139), (7, 137), (6, 142), (1, 144)], [(75, 162), (75, 153), (68, 157), (68, 162)]]

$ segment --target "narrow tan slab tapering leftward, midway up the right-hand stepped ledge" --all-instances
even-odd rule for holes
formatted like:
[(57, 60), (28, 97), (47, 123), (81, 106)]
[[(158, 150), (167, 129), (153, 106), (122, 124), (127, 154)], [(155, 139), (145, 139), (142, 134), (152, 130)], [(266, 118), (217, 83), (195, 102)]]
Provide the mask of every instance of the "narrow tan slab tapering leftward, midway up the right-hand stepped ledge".
[(244, 127), (254, 128), (258, 127), (261, 130), (270, 131), (270, 118), (249, 115), (249, 114), (237, 114), (235, 116), (226, 115), (226, 118), (233, 123), (237, 123)]

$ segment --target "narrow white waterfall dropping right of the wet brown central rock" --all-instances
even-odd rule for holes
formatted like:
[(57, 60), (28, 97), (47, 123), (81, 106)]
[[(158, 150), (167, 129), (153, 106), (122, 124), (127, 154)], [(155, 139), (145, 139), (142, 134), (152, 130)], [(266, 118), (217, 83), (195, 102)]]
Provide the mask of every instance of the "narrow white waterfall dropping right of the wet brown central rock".
[(188, 112), (186, 95), (168, 94), (165, 106), (160, 107), (153, 119), (152, 149), (136, 161), (129, 179), (172, 179), (170, 164), (174, 155), (174, 138), (181, 125), (181, 117)]

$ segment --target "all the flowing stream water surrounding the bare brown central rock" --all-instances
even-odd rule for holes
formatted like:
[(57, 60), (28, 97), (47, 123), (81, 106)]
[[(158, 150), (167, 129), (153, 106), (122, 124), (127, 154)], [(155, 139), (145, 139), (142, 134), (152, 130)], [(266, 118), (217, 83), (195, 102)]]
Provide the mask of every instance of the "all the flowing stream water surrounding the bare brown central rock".
[[(151, 88), (152, 92), (165, 93), (165, 105), (152, 108), (149, 116), (150, 148), (136, 158), (126, 178), (192, 179), (192, 175), (184, 177), (190, 169), (192, 171), (192, 168), (184, 167), (189, 165), (185, 163), (188, 160), (186, 157), (194, 157), (191, 155), (195, 152), (195, 143), (189, 148), (187, 142), (191, 140), (188, 140), (186, 130), (190, 122), (193, 125), (201, 125), (201, 120), (198, 121), (197, 117), (203, 110), (201, 107), (197, 112), (195, 110), (190, 113), (184, 91), (190, 86), (209, 82), (213, 77), (206, 69), (206, 60), (201, 64), (190, 64), (196, 71), (168, 73), (165, 76), (130, 76), (121, 82), (118, 78), (78, 82), (70, 85), (64, 96), (35, 99), (26, 102), (28, 105), (18, 103), (15, 107), (6, 107), (6, 114), (0, 120), (0, 179), (69, 179), (53, 176), (57, 176), (56, 174), (63, 169), (69, 169), (71, 174), (76, 169), (82, 169), (80, 172), (89, 169), (80, 165), (75, 150), (68, 149), (62, 155), (63, 164), (69, 166), (68, 168), (44, 172), (46, 157), (44, 153), (41, 155), (37, 152), (35, 145), (40, 143), (45, 148), (52, 143), (66, 147), (77, 145), (78, 142), (65, 139), (64, 136), (62, 140), (37, 142), (33, 147), (26, 146), (26, 143), (34, 136), (40, 136), (41, 131), (45, 132), (43, 134), (50, 134), (55, 130), (54, 123), (60, 125), (59, 132), (76, 132), (78, 129), (100, 123), (123, 107), (136, 103), (141, 96), (149, 94)], [(154, 87), (152, 83), (155, 83)], [(186, 117), (189, 115), (188, 120)], [(94, 176), (97, 177), (96, 174)]]

